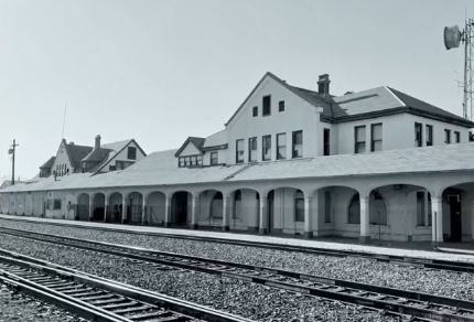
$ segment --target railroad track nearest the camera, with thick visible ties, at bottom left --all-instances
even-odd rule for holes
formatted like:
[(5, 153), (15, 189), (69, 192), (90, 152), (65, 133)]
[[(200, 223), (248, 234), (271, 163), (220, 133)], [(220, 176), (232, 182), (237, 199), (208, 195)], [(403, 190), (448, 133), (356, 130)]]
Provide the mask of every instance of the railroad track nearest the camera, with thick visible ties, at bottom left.
[(97, 322), (251, 322), (12, 253), (0, 256), (0, 282)]

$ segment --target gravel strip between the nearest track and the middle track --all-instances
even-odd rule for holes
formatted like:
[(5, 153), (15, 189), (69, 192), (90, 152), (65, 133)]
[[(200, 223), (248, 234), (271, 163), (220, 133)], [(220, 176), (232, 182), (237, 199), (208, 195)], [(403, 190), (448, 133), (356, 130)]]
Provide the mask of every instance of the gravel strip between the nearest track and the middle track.
[(356, 305), (236, 279), (133, 265), (115, 256), (1, 235), (0, 247), (82, 271), (213, 307), (255, 321), (398, 321)]

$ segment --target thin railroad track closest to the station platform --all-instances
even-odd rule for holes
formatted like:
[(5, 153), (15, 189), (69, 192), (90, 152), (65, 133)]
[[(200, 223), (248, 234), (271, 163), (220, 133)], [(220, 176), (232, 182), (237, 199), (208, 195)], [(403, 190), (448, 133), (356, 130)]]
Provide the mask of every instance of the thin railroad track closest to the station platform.
[(37, 222), (29, 222), (29, 221), (18, 219), (18, 218), (0, 218), (0, 221), (2, 219), (11, 221), (11, 222), (21, 222), (21, 223), (26, 222), (26, 223), (49, 225), (49, 226), (65, 226), (65, 227), (75, 227), (75, 228), (82, 228), (82, 229), (134, 234), (134, 235), (154, 236), (154, 237), (162, 237), (162, 238), (175, 238), (175, 239), (186, 239), (186, 240), (194, 240), (194, 242), (227, 244), (227, 245), (265, 248), (265, 249), (272, 249), (272, 250), (303, 253), (303, 254), (311, 254), (311, 255), (319, 255), (319, 256), (367, 258), (378, 262), (407, 265), (407, 266), (413, 266), (419, 268), (431, 268), (431, 269), (460, 271), (460, 272), (474, 272), (474, 262), (465, 262), (465, 261), (451, 261), (451, 260), (442, 260), (442, 259), (429, 259), (429, 258), (422, 258), (422, 257), (408, 257), (408, 256), (396, 256), (396, 255), (379, 255), (379, 254), (363, 253), (363, 251), (324, 249), (324, 248), (316, 248), (316, 247), (281, 245), (281, 244), (271, 244), (271, 243), (263, 243), (263, 242), (229, 240), (229, 239), (216, 238), (216, 237), (198, 237), (198, 236), (185, 236), (185, 235), (177, 235), (177, 234), (132, 232), (127, 229), (115, 229), (115, 228), (112, 229), (108, 227), (89, 227), (89, 226), (85, 227), (85, 226), (75, 225), (75, 224), (37, 223)]

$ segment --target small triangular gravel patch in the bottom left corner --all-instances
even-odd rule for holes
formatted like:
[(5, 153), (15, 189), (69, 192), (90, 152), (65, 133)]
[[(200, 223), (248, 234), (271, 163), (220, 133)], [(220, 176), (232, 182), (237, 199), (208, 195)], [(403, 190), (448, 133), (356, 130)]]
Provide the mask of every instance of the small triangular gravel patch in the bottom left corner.
[(0, 322), (85, 322), (50, 303), (39, 301), (0, 282)]

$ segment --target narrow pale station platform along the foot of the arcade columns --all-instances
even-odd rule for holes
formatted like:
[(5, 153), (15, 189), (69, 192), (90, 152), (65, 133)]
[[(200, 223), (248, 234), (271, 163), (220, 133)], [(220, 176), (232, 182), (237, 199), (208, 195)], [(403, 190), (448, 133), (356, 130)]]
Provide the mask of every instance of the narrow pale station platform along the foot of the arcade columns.
[(226, 238), (229, 240), (246, 240), (254, 243), (271, 243), (276, 245), (291, 245), (304, 246), (313, 248), (333, 249), (333, 250), (349, 250), (359, 253), (369, 253), (378, 255), (396, 255), (407, 257), (422, 257), (429, 259), (441, 259), (452, 261), (470, 261), (474, 262), (474, 247), (471, 243), (444, 243), (442, 251), (435, 251), (428, 242), (388, 242), (388, 240), (371, 240), (369, 245), (357, 244), (356, 238), (342, 238), (342, 237), (315, 237), (313, 239), (304, 239), (303, 236), (294, 235), (265, 235), (260, 236), (248, 232), (220, 232), (209, 229), (183, 229), (183, 228), (163, 228), (154, 226), (137, 226), (137, 225), (121, 225), (109, 224), (101, 222), (80, 222), (80, 221), (66, 221), (66, 219), (52, 219), (39, 218), (28, 216), (14, 216), (0, 214), (0, 227), (2, 226), (2, 218), (4, 219), (20, 219), (31, 223), (54, 223), (63, 225), (74, 225), (83, 228), (100, 227), (111, 232), (120, 229), (130, 233), (158, 233), (163, 235), (186, 235), (205, 238)]

